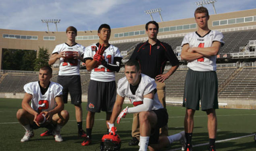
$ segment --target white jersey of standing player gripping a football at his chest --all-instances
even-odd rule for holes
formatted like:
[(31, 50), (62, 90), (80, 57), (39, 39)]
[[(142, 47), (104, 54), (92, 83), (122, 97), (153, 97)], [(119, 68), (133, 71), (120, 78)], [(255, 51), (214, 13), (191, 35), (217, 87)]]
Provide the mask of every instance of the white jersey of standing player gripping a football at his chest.
[[(62, 43), (57, 45), (52, 54), (66, 52), (66, 51), (74, 51), (78, 52), (81, 55), (84, 54), (85, 47), (76, 43), (73, 46), (69, 46), (67, 43)], [(80, 74), (80, 60), (79, 59), (63, 59), (60, 58), (60, 70), (59, 75), (79, 75)]]

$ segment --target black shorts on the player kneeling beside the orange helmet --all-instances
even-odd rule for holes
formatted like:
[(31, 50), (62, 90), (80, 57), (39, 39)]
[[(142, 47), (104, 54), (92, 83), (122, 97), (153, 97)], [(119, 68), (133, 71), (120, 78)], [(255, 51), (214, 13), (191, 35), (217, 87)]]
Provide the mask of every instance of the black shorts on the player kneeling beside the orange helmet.
[(168, 123), (168, 113), (166, 108), (152, 110), (156, 113), (157, 124), (151, 129), (151, 134), (149, 137), (149, 144), (157, 144), (159, 139), (159, 129)]

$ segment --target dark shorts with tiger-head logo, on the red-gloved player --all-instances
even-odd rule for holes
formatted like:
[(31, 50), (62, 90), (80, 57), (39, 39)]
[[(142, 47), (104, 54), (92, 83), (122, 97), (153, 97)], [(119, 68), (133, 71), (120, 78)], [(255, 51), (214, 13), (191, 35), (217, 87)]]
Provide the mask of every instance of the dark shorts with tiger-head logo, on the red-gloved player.
[(90, 80), (88, 89), (87, 110), (90, 112), (112, 112), (116, 101), (116, 82)]

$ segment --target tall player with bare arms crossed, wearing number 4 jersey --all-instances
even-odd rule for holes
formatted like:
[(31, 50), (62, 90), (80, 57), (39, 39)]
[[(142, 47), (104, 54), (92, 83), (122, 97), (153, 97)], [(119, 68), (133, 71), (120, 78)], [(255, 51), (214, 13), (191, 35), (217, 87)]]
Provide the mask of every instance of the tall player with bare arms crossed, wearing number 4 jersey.
[(192, 151), (192, 132), (194, 113), (202, 110), (208, 116), (209, 151), (215, 151), (217, 118), (215, 109), (218, 106), (218, 82), (216, 76), (216, 55), (223, 43), (223, 35), (219, 31), (208, 29), (209, 14), (205, 7), (198, 7), (194, 13), (198, 30), (185, 35), (182, 41), (181, 59), (188, 61), (183, 106), (186, 109), (184, 128), (187, 138), (185, 151)]

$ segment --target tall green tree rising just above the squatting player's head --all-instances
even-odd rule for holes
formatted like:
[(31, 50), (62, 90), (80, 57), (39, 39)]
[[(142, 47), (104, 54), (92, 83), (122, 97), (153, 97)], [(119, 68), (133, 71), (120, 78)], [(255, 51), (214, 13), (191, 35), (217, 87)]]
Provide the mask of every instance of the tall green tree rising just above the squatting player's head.
[(48, 54), (48, 49), (44, 49), (44, 47), (39, 47), (39, 52), (37, 58), (35, 59), (35, 71), (39, 71), (42, 66), (48, 66), (48, 60), (50, 58), (50, 54)]

